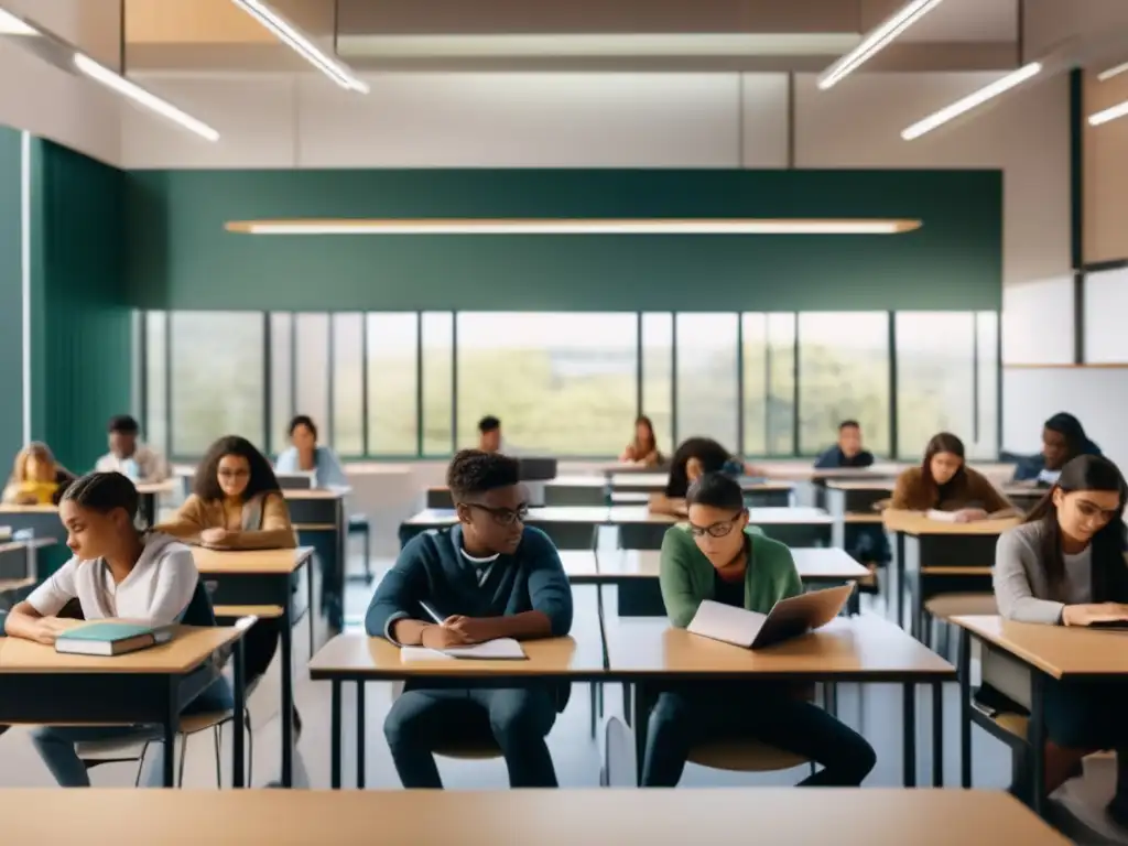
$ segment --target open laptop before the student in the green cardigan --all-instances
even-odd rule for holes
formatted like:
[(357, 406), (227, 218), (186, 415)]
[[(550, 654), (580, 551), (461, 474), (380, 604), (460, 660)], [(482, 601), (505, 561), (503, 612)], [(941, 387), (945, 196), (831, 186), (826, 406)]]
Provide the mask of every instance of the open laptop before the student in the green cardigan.
[(768, 614), (706, 599), (687, 631), (734, 646), (764, 649), (827, 625), (841, 613), (853, 591), (853, 583), (812, 590), (779, 600)]

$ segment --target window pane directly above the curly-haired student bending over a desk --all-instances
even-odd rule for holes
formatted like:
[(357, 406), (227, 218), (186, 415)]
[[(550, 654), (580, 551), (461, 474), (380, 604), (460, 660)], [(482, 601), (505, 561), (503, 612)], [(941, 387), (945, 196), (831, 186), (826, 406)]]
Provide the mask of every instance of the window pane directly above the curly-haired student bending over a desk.
[(704, 435), (737, 450), (737, 315), (678, 315), (678, 440)]

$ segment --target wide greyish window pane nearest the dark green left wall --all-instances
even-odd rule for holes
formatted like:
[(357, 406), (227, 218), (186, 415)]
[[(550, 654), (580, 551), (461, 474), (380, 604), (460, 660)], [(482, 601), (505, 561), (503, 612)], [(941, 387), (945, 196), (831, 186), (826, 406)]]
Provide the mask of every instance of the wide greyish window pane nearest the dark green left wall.
[(169, 326), (171, 451), (200, 456), (217, 438), (263, 444), (263, 315), (174, 311)]

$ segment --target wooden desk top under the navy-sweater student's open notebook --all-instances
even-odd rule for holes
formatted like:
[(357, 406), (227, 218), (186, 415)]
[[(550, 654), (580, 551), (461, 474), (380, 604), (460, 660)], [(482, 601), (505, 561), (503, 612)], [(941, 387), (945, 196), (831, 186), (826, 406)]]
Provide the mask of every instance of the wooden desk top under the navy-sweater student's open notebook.
[(572, 626), (570, 637), (525, 641), (525, 661), (426, 660), (405, 663), (399, 647), (365, 634), (337, 635), (309, 662), (314, 679), (405, 679), (423, 676), (483, 678), (543, 676), (593, 678), (603, 672), (603, 645), (598, 625)]

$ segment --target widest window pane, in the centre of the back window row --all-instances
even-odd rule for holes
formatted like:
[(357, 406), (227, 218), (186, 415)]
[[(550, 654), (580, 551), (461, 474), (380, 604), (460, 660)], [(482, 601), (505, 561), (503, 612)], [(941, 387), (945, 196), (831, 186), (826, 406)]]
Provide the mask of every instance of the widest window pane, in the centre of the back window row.
[(636, 406), (634, 314), (458, 315), (458, 442), (493, 414), (518, 452), (618, 455)]

